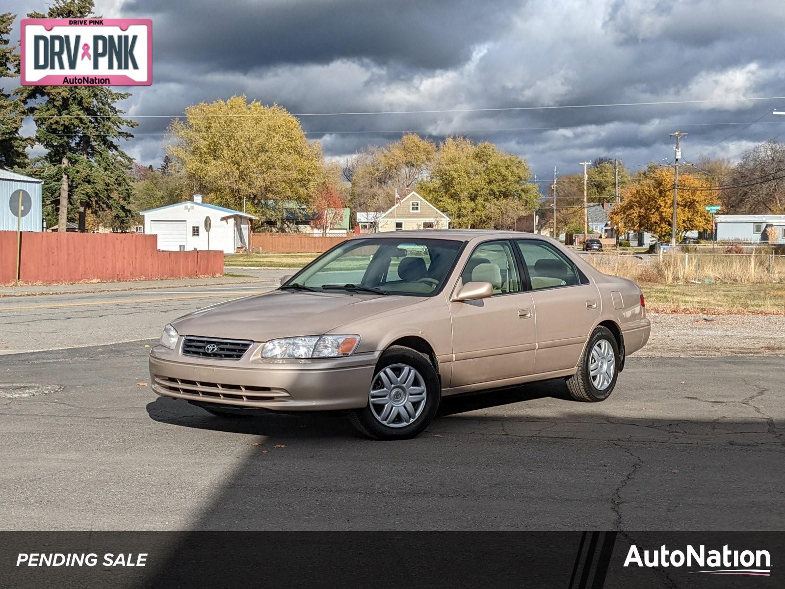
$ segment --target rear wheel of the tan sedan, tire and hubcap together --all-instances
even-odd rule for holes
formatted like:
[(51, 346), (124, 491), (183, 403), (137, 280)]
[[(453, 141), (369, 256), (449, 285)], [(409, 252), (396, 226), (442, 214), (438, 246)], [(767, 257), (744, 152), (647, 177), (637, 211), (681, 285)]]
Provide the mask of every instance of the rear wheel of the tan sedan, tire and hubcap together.
[(597, 403), (611, 396), (619, 376), (619, 344), (608, 327), (597, 327), (581, 357), (578, 371), (568, 377), (575, 401)]

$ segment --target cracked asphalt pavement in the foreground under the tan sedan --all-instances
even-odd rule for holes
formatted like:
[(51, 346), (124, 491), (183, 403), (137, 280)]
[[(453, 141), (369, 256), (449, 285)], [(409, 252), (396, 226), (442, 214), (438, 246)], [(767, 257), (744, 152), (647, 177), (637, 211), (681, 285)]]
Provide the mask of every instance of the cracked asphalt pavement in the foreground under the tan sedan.
[(632, 356), (601, 404), (551, 381), (373, 442), (156, 397), (149, 343), (0, 356), (2, 529), (785, 529), (781, 357)]

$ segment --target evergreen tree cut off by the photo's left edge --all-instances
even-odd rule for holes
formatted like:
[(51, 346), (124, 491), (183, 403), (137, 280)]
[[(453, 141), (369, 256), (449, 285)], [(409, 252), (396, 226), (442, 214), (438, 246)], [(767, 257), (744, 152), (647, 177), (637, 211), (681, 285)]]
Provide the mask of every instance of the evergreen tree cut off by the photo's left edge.
[[(15, 14), (0, 14), (0, 78), (16, 78), (19, 75), (19, 54), (16, 47), (9, 46), (9, 35)], [(22, 167), (27, 164), (27, 140), (19, 133), (24, 120), (21, 104), (13, 100), (5, 89), (0, 88), (0, 166)]]

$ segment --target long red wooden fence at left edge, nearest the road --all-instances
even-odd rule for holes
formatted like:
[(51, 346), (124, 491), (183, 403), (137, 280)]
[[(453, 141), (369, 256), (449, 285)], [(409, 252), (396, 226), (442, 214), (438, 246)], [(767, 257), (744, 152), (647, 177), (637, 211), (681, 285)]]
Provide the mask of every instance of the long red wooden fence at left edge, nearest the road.
[[(23, 232), (20, 282), (154, 280), (220, 276), (222, 251), (158, 251), (157, 236), (134, 233)], [(0, 284), (13, 284), (16, 232), (0, 231)]]

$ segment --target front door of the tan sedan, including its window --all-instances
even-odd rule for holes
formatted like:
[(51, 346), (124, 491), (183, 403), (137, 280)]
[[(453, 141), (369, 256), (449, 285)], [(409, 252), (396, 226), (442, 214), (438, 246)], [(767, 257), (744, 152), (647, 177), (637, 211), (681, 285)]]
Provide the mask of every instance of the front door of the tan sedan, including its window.
[(489, 282), (493, 294), (449, 303), (451, 388), (515, 379), (534, 370), (534, 309), (522, 278), (509, 240), (480, 243), (469, 256), (453, 293), (468, 282)]

